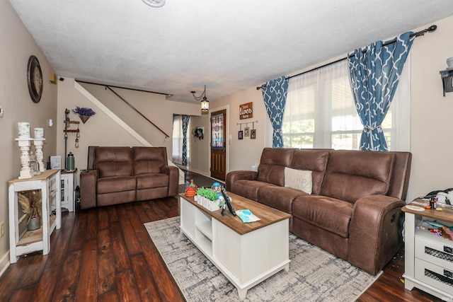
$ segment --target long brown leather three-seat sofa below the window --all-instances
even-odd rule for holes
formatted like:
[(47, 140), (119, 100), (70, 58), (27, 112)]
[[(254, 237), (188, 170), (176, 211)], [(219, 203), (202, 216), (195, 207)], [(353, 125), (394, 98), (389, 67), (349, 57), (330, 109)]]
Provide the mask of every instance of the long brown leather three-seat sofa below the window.
[[(233, 171), (226, 190), (292, 214), (289, 231), (377, 274), (402, 244), (409, 152), (264, 149), (258, 172)], [(285, 168), (311, 171), (311, 194), (285, 187)]]

